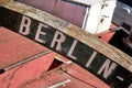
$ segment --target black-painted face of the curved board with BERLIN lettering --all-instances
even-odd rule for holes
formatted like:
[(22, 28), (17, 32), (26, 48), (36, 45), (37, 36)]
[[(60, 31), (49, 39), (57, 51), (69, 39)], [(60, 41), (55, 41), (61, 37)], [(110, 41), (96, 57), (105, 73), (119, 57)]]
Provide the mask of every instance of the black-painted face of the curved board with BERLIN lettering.
[(0, 8), (0, 15), (2, 26), (68, 57), (108, 85), (116, 88), (132, 88), (131, 73), (94, 48), (46, 23), (14, 11)]

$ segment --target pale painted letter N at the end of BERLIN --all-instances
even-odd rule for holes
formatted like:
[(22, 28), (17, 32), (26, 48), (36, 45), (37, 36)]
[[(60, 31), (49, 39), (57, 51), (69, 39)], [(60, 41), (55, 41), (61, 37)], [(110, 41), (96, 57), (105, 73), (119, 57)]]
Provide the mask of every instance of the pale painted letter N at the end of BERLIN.
[(110, 63), (111, 63), (111, 61), (107, 59), (98, 72), (99, 75), (103, 72), (103, 77), (106, 79), (112, 74), (112, 72), (118, 66), (116, 63), (112, 63), (111, 65), (110, 65)]

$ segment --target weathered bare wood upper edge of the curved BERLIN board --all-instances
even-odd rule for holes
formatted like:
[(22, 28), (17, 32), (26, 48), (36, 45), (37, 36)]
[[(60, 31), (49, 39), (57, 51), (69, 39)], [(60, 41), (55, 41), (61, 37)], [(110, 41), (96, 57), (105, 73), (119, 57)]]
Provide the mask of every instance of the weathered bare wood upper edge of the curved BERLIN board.
[(108, 58), (112, 59), (113, 62), (118, 63), (119, 65), (132, 73), (131, 56), (122, 53), (121, 51), (111, 46), (110, 44), (102, 42), (92, 34), (70, 24), (69, 22), (63, 21), (59, 18), (56, 18), (50, 13), (15, 1), (8, 2), (3, 4), (3, 7), (16, 11), (21, 14), (28, 15), (30, 18), (33, 18), (35, 20), (38, 20), (41, 22), (47, 23), (48, 25), (59, 30), (61, 32), (78, 40), (87, 46), (90, 46), (91, 48), (106, 55)]

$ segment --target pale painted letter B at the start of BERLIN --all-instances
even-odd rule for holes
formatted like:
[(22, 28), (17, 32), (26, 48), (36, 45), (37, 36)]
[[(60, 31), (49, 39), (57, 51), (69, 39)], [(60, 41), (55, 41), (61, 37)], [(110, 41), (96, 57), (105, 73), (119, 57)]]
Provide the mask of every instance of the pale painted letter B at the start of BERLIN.
[(22, 21), (21, 21), (21, 25), (20, 25), (20, 30), (19, 33), (23, 34), (23, 35), (28, 35), (30, 34), (30, 25), (31, 25), (31, 19), (28, 16), (22, 16)]

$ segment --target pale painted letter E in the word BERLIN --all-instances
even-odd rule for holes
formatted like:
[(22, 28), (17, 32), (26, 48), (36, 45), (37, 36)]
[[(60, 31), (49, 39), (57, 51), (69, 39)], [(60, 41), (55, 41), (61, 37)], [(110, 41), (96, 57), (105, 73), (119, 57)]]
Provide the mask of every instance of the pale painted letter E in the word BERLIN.
[(37, 41), (40, 43), (45, 43), (45, 41), (40, 37), (41, 35), (46, 35), (46, 33), (42, 31), (43, 28), (47, 29), (48, 26), (45, 25), (45, 24), (40, 23), (38, 29), (36, 31), (36, 35), (35, 35), (35, 41)]

